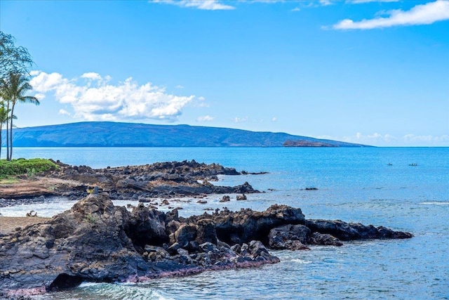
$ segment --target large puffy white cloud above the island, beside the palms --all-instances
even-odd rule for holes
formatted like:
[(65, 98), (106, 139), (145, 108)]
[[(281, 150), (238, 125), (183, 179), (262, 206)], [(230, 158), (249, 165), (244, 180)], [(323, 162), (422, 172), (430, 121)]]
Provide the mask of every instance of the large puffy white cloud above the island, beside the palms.
[[(151, 83), (138, 85), (132, 78), (119, 84), (108, 84), (110, 77), (85, 73), (79, 79), (67, 79), (61, 74), (33, 72), (30, 84), (38, 93), (54, 93), (60, 103), (72, 105), (72, 117), (95, 120), (166, 119), (173, 121), (194, 96), (176, 96)], [(91, 86), (95, 82), (95, 86)], [(60, 112), (61, 113), (61, 112)], [(63, 115), (64, 112), (62, 112)]]

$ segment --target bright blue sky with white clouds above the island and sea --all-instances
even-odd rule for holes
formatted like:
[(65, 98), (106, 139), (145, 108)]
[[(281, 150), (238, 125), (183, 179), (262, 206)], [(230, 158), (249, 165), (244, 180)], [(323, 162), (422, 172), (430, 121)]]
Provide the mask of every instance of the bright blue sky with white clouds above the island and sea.
[(18, 127), (83, 121), (449, 146), (449, 1), (0, 0)]

